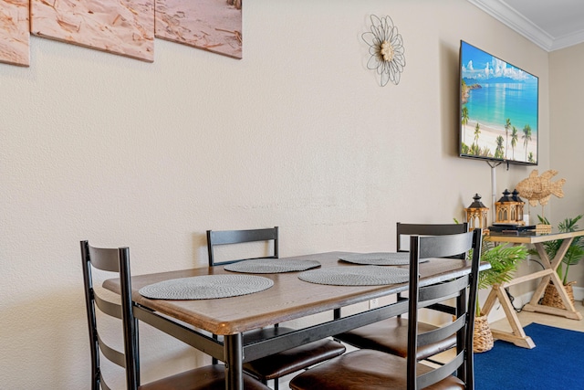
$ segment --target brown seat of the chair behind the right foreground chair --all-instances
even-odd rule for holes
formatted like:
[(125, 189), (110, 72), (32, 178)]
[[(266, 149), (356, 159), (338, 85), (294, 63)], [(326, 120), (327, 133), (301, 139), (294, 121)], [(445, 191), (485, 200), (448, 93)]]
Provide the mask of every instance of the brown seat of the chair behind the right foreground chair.
[[(418, 322), (418, 332), (429, 332), (437, 329), (436, 326)], [(335, 339), (348, 343), (357, 348), (370, 349), (391, 353), (401, 357), (408, 355), (408, 319), (393, 317), (384, 321), (337, 334)], [(418, 359), (426, 359), (436, 353), (446, 351), (456, 345), (456, 335), (439, 342), (424, 345), (418, 348)]]

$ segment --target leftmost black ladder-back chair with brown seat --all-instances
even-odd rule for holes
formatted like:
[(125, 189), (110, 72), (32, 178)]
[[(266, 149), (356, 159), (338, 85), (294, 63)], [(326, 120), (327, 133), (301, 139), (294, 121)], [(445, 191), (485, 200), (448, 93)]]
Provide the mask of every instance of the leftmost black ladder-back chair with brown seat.
[[(101, 356), (125, 369), (126, 385), (130, 390), (224, 390), (224, 367), (218, 364), (195, 368), (141, 385), (138, 320), (134, 317), (131, 300), (130, 249), (95, 248), (89, 246), (88, 241), (81, 241), (81, 261), (89, 322), (92, 390), (110, 389), (101, 373), (99, 364)], [(106, 300), (99, 296), (97, 290), (94, 290), (92, 269), (113, 272), (120, 277), (120, 303)], [(97, 310), (121, 320), (122, 351), (105, 343), (99, 336)], [(245, 389), (269, 390), (269, 387), (247, 374), (245, 374), (244, 382)]]

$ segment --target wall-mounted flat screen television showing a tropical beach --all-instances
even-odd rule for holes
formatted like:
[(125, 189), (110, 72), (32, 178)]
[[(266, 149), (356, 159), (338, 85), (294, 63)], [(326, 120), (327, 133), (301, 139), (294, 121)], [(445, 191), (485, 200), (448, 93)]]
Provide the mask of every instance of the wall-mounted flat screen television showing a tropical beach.
[(460, 156), (537, 165), (539, 79), (460, 44)]

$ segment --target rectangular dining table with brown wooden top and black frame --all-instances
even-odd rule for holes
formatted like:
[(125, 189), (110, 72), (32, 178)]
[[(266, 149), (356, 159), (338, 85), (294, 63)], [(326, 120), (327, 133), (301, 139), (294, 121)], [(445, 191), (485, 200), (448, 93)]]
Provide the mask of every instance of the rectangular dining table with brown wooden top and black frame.
[[(347, 272), (363, 267), (341, 259), (348, 255), (354, 254), (338, 251), (276, 258), (270, 261), (308, 260), (318, 263), (318, 268), (311, 270), (322, 271)], [(409, 269), (405, 264), (367, 267)], [(488, 265), (483, 264), (482, 267)], [(408, 278), (381, 285), (320, 284), (300, 279), (303, 274), (309, 272), (308, 270), (250, 275), (267, 279), (271, 286), (258, 292), (227, 298), (152, 299), (142, 295), (144, 289), (165, 281), (238, 274), (225, 268), (228, 267), (203, 267), (132, 276), (131, 295), (137, 319), (223, 361), (227, 390), (244, 388), (242, 364), (245, 362), (348, 332), (408, 311), (407, 300), (393, 299), (382, 300), (384, 302), (382, 305), (369, 310), (365, 307), (356, 313), (341, 311), (350, 305), (406, 291)], [(422, 286), (434, 284), (468, 274), (470, 270), (470, 261), (464, 259), (431, 258), (420, 264), (420, 282)], [(120, 294), (120, 279), (107, 279), (103, 282), (103, 287)], [(328, 312), (330, 316), (321, 314)], [(315, 314), (321, 314), (318, 316), (319, 321), (306, 319)], [(312, 320), (314, 318), (312, 317)], [(295, 323), (305, 325), (294, 328), (291, 332), (261, 340), (245, 338), (247, 331), (300, 319), (305, 320)]]

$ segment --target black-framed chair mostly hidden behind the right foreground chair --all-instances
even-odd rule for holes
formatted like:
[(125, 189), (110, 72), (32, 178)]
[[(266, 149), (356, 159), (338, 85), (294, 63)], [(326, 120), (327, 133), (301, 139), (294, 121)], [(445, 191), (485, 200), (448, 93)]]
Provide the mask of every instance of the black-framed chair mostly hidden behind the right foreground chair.
[[(401, 241), (403, 236), (443, 236), (458, 233), (465, 233), (468, 229), (464, 224), (397, 224), (397, 250), (404, 252), (409, 248), (403, 248)], [(464, 258), (464, 252), (456, 254), (454, 258)], [(398, 294), (398, 300), (401, 300), (401, 294)], [(449, 314), (456, 314), (455, 308), (443, 303), (436, 303), (430, 309), (443, 311)], [(429, 332), (437, 327), (433, 324), (422, 322), (418, 323), (421, 332)], [(353, 331), (340, 333), (335, 339), (348, 343), (357, 348), (373, 349), (385, 353), (392, 353), (406, 357), (408, 353), (408, 319), (399, 317), (390, 318), (384, 321), (374, 322), (370, 325), (363, 326)], [(456, 343), (455, 337), (446, 338), (440, 343), (427, 344), (418, 349), (419, 358), (429, 358), (435, 353), (452, 348)]]

